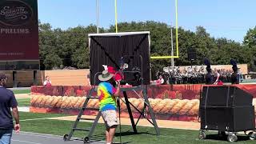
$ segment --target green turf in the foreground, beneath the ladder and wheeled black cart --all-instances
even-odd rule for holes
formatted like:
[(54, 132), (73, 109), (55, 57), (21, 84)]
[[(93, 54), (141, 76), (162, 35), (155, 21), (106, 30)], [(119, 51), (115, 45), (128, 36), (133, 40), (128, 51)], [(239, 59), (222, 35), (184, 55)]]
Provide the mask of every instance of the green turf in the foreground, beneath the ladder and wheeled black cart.
[[(74, 122), (61, 121), (61, 120), (50, 120), (50, 119), (35, 119), (33, 118), (51, 118), (64, 116), (65, 114), (32, 114), (32, 113), (20, 113), (22, 131), (30, 131), (43, 134), (55, 134), (63, 135), (70, 132), (70, 128)], [(26, 120), (27, 119), (27, 120)], [(79, 126), (82, 128), (89, 127), (92, 123), (80, 122)], [(94, 132), (94, 138), (104, 140), (105, 126), (98, 124)], [(160, 129), (161, 135), (155, 135), (154, 128), (138, 126), (138, 134), (132, 133), (131, 126), (122, 126), (122, 142), (128, 143), (229, 143), (226, 139), (219, 139), (217, 133), (209, 132), (206, 140), (198, 140), (198, 130), (174, 130), (174, 129)], [(75, 132), (74, 137), (83, 138), (85, 132)], [(116, 130), (116, 136), (114, 142), (119, 142), (119, 127)], [(249, 140), (246, 136), (238, 136), (238, 142), (236, 143), (255, 143), (255, 141)]]

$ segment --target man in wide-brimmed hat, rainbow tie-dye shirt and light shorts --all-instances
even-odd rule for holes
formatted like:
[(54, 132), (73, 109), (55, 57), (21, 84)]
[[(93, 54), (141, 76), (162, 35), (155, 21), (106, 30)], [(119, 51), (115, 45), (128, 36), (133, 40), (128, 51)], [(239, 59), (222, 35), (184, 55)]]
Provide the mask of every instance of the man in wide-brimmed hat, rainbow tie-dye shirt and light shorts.
[(117, 104), (115, 97), (120, 94), (120, 82), (118, 82), (117, 88), (111, 83), (114, 83), (114, 74), (110, 74), (107, 70), (104, 70), (98, 79), (101, 83), (98, 84), (98, 101), (99, 110), (102, 113), (102, 118), (106, 125), (106, 143), (113, 142), (115, 129), (118, 126), (118, 118), (116, 114)]

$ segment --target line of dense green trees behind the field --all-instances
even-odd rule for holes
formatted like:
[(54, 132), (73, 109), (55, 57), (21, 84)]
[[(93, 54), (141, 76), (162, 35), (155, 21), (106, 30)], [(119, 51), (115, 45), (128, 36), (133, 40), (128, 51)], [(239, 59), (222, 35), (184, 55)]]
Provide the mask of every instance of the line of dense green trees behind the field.
[[(175, 31), (175, 28), (173, 31)], [(39, 22), (39, 58), (41, 70), (63, 69), (71, 66), (77, 69), (90, 67), (88, 34), (96, 33), (97, 26), (77, 26), (62, 30), (53, 29), (49, 23)], [(150, 56), (171, 54), (171, 27), (162, 22), (121, 22), (118, 32), (150, 31)], [(115, 26), (100, 28), (100, 33), (115, 32)], [(174, 55), (176, 48), (174, 36)], [(230, 59), (238, 63), (247, 63), (249, 70), (256, 70), (256, 26), (247, 31), (242, 43), (227, 38), (214, 38), (202, 26), (195, 31), (178, 28), (179, 58), (174, 59), (175, 66), (190, 65), (187, 50), (194, 48), (197, 58), (194, 65), (202, 65), (209, 58), (213, 65), (230, 64)], [(170, 66), (170, 59), (151, 59), (154, 70)]]

